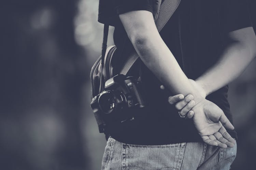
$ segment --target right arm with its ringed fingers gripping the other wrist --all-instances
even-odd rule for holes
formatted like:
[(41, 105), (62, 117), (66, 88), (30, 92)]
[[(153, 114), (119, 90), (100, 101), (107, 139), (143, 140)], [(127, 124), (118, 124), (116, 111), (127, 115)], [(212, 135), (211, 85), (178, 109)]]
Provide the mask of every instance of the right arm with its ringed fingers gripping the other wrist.
[[(227, 45), (220, 60), (196, 81), (190, 80), (205, 96), (236, 79), (256, 56), (256, 36), (252, 27), (232, 31), (228, 33), (228, 38), (232, 41)], [(218, 81), (215, 81), (216, 79)], [(188, 105), (190, 100), (180, 99), (180, 95), (170, 96), (169, 103), (175, 104), (178, 110), (183, 111), (182, 115), (186, 115), (191, 108), (191, 105)]]

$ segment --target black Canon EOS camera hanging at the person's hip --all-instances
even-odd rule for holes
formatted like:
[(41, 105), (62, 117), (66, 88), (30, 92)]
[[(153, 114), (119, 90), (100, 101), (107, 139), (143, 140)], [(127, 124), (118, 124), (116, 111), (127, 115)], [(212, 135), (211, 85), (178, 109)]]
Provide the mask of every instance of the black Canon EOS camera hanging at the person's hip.
[(91, 101), (91, 108), (103, 120), (133, 120), (131, 108), (142, 108), (145, 102), (141, 94), (141, 82), (134, 77), (118, 74), (105, 82), (104, 91)]

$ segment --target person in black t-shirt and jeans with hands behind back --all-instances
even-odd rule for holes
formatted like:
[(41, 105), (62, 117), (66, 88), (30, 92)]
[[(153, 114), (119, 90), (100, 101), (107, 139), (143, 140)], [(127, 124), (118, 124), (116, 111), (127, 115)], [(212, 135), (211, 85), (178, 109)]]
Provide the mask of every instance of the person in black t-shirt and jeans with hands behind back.
[[(116, 57), (122, 61), (132, 48), (139, 54), (147, 106), (138, 111), (143, 116), (110, 128), (102, 169), (229, 169), (237, 135), (225, 85), (256, 54), (247, 5), (182, 0), (159, 34), (152, 15), (155, 2), (108, 1), (119, 18), (114, 23)], [(99, 9), (99, 20), (111, 15), (101, 4)], [(176, 94), (186, 96), (176, 104), (180, 115), (167, 102)], [(180, 117), (186, 114), (193, 119)]]

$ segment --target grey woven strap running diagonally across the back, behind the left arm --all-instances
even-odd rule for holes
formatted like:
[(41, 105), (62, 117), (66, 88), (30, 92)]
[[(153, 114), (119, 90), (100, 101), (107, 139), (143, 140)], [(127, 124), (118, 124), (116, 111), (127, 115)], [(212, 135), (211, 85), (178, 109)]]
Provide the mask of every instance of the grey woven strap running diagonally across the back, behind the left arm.
[[(158, 14), (158, 19), (155, 21), (158, 32), (162, 30), (162, 28), (171, 18), (171, 16), (179, 6), (180, 2), (181, 0), (164, 0), (163, 1)], [(138, 58), (139, 58), (139, 55), (137, 54), (137, 52), (132, 51), (131, 54), (127, 57), (127, 60), (125, 61), (124, 66), (121, 68), (120, 74), (126, 75)]]

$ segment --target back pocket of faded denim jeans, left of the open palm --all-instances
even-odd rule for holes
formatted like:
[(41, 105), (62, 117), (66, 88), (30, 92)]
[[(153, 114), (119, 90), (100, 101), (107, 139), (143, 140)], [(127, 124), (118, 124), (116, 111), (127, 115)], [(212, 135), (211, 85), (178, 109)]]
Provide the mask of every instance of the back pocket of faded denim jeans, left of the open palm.
[(124, 170), (180, 169), (186, 143), (170, 145), (122, 144), (122, 168)]

